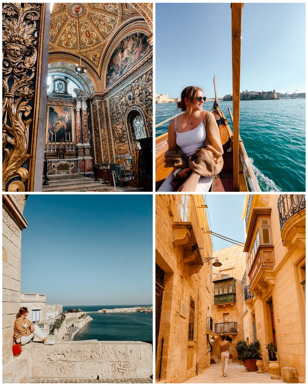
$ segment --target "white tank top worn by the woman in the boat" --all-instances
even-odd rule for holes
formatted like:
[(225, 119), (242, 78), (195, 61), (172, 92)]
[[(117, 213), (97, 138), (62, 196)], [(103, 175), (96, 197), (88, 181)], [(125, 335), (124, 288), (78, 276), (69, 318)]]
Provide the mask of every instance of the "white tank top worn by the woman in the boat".
[(186, 157), (192, 156), (192, 154), (196, 152), (198, 147), (204, 146), (204, 141), (206, 139), (206, 130), (203, 124), (203, 120), (201, 121), (201, 124), (196, 127), (196, 129), (180, 133), (177, 131), (176, 117), (174, 131), (176, 132), (176, 144), (186, 155)]

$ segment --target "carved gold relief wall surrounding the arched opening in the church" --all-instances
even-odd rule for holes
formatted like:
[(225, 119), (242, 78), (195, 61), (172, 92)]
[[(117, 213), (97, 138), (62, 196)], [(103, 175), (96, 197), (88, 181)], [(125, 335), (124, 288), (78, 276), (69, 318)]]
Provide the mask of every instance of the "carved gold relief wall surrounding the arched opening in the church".
[[(132, 106), (141, 108), (146, 117), (147, 127), (152, 136), (153, 125), (153, 70), (150, 69), (143, 75), (139, 76), (137, 80), (129, 83), (117, 94), (109, 99), (110, 115), (112, 124), (112, 133), (114, 137), (115, 154), (128, 154), (128, 144), (126, 131), (124, 128), (124, 115), (126, 110)], [(134, 133), (131, 133), (132, 144), (131, 148), (134, 151), (137, 149), (136, 139)], [(126, 152), (124, 152), (126, 151)]]

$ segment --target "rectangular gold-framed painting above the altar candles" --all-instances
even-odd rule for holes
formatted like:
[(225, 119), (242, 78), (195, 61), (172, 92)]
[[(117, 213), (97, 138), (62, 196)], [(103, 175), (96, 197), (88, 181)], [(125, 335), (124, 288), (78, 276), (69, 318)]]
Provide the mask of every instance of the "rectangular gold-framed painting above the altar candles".
[(49, 105), (47, 109), (46, 142), (72, 142), (72, 106)]

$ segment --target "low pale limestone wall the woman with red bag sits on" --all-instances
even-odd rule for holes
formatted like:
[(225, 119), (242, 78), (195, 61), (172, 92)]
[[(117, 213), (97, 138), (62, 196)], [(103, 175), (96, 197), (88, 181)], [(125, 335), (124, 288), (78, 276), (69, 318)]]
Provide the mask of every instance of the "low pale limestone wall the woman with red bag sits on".
[(152, 375), (152, 345), (144, 342), (66, 341), (23, 346), (31, 358), (32, 378), (148, 378)]

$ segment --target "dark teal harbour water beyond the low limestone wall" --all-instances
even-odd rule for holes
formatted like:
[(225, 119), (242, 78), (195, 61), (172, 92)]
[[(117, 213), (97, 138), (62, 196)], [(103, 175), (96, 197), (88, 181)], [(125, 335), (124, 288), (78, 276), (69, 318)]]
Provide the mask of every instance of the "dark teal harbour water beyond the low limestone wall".
[[(102, 310), (103, 308), (133, 306), (134, 305), (65, 306), (63, 307), (63, 311), (66, 311), (67, 308), (81, 308), (82, 311), (88, 313)], [(89, 315), (93, 320), (77, 332), (74, 340), (153, 340), (153, 313), (89, 313)]]

